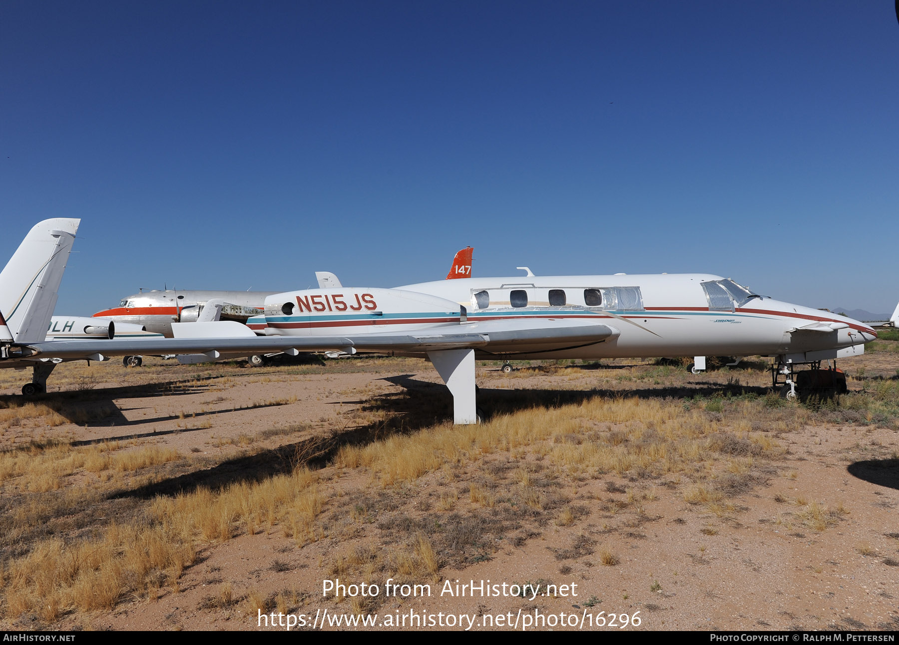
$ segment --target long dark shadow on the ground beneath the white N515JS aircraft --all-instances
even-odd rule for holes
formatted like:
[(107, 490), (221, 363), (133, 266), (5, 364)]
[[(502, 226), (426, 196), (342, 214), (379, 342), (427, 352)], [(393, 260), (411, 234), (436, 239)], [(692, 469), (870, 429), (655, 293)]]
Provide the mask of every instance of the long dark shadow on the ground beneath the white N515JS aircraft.
[[(258, 482), (272, 475), (290, 473), (299, 465), (316, 469), (333, 461), (343, 446), (366, 446), (392, 435), (411, 434), (435, 424), (452, 420), (452, 396), (442, 384), (421, 381), (406, 374), (390, 376), (390, 383), (400, 385), (399, 392), (385, 393), (360, 401), (363, 411), (384, 412), (382, 418), (361, 426), (346, 426), (329, 435), (308, 437), (285, 446), (264, 450), (255, 455), (229, 459), (209, 469), (184, 473), (136, 490), (122, 491), (115, 498), (150, 499), (156, 495), (176, 495), (200, 487), (218, 489), (240, 482)], [(765, 388), (740, 388), (741, 392), (765, 393)], [(567, 403), (584, 402), (597, 397), (622, 394), (640, 398), (711, 396), (727, 391), (725, 385), (709, 384), (699, 388), (658, 388), (631, 390), (494, 390), (481, 389), (478, 401), (495, 413), (508, 413), (534, 407), (552, 408)], [(343, 401), (343, 403), (350, 403)]]

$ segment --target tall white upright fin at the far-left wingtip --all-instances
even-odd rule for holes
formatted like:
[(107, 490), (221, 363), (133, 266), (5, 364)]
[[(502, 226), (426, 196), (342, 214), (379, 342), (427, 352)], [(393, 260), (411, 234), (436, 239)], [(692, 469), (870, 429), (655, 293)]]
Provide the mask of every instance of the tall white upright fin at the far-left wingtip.
[(16, 342), (44, 340), (80, 219), (45, 219), (31, 228), (0, 272), (0, 311)]

